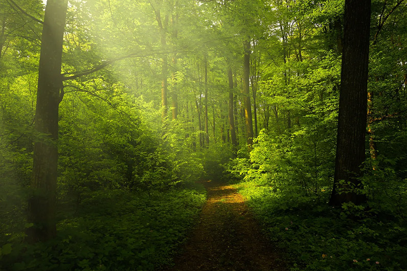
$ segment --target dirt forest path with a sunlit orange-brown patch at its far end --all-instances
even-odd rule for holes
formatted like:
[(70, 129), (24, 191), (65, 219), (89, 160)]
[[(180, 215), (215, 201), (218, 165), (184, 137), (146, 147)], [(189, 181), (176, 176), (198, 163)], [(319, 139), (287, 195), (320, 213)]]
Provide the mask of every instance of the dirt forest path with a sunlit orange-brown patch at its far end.
[(245, 199), (232, 186), (205, 182), (208, 200), (175, 266), (166, 270), (284, 270)]

